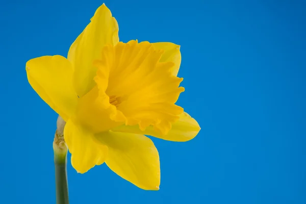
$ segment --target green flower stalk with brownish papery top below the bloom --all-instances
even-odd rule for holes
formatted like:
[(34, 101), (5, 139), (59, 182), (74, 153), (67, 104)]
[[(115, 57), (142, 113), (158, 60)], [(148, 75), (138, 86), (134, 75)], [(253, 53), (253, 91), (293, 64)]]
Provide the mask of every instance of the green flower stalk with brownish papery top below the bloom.
[(68, 148), (64, 140), (64, 126), (65, 121), (59, 116), (53, 142), (57, 204), (69, 203), (66, 169)]

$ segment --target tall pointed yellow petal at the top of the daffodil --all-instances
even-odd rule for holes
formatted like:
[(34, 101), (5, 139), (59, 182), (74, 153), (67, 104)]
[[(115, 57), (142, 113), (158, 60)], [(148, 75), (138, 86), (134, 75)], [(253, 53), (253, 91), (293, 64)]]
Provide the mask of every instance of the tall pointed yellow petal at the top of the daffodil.
[(118, 30), (116, 19), (103, 4), (96, 10), (85, 30), (72, 43), (68, 59), (75, 70), (73, 84), (80, 97), (94, 87), (96, 68), (93, 66), (93, 61), (100, 59), (105, 45), (117, 44)]

